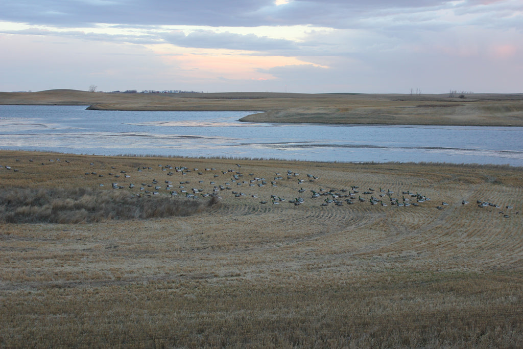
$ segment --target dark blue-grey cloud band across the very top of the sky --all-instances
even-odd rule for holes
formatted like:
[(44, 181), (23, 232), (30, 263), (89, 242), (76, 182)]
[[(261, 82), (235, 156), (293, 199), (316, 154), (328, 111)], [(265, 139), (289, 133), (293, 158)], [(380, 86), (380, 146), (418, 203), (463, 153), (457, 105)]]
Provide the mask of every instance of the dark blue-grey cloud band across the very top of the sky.
[(517, 18), (521, 18), (518, 0), (293, 0), (280, 5), (274, 0), (17, 0), (0, 4), (0, 19), (69, 27), (107, 23), (212, 27), (312, 25), (342, 29), (396, 16), (419, 25), (423, 25), (419, 15), (425, 14), (445, 21), (438, 18), (445, 15), (445, 10), (458, 17), (488, 15), (491, 18), (519, 12)]

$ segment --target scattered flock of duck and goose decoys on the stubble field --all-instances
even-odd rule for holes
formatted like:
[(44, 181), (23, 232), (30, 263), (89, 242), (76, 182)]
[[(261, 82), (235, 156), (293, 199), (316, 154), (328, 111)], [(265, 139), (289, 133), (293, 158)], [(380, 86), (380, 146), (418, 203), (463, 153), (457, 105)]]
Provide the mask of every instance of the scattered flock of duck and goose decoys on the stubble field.
[[(19, 162), (19, 159), (16, 159), (16, 162)], [(33, 160), (29, 160), (29, 162), (33, 162)], [(61, 162), (60, 159), (49, 159), (49, 163), (53, 162)], [(65, 160), (66, 163), (69, 163), (69, 161)], [(42, 165), (45, 165), (46, 163), (41, 163)], [(93, 167), (95, 164), (90, 163), (90, 166)], [(0, 165), (0, 169), (5, 168), (7, 171), (14, 171), (18, 172), (16, 168), (13, 168), (12, 166), (7, 165)], [(169, 176), (168, 179), (165, 179), (164, 181), (161, 181), (162, 183), (158, 182), (157, 179), (153, 179), (150, 183), (142, 182), (140, 185), (135, 185), (134, 183), (128, 183), (126, 185), (121, 185), (118, 182), (112, 182), (111, 187), (113, 189), (134, 189), (139, 188), (139, 193), (136, 195), (159, 195), (162, 192), (168, 193), (172, 196), (184, 196), (186, 198), (190, 199), (197, 199), (199, 197), (209, 197), (209, 196), (219, 196), (222, 192), (230, 192), (234, 197), (240, 198), (240, 197), (246, 197), (248, 196), (246, 193), (242, 192), (242, 188), (246, 188), (244, 190), (247, 190), (249, 187), (278, 187), (279, 181), (285, 181), (287, 179), (286, 186), (288, 187), (291, 181), (295, 181), (300, 186), (300, 189), (297, 189), (297, 195), (295, 195), (292, 199), (285, 199), (282, 198), (279, 195), (270, 195), (270, 202), (272, 202), (272, 205), (280, 205), (283, 202), (289, 202), (290, 204), (293, 204), (295, 206), (299, 206), (305, 202), (305, 199), (302, 196), (305, 196), (304, 194), (307, 192), (311, 193), (311, 199), (314, 201), (321, 201), (321, 206), (344, 206), (346, 205), (354, 205), (354, 204), (363, 204), (368, 203), (372, 206), (379, 205), (379, 206), (395, 206), (395, 207), (409, 207), (409, 206), (419, 206), (422, 205), (426, 201), (431, 201), (429, 197), (426, 195), (423, 195), (421, 193), (412, 193), (410, 190), (402, 191), (401, 192), (401, 198), (399, 195), (397, 197), (394, 196), (394, 192), (390, 189), (383, 189), (379, 188), (379, 190), (375, 190), (373, 188), (367, 188), (363, 190), (360, 193), (360, 188), (356, 185), (352, 185), (349, 188), (343, 188), (343, 189), (325, 189), (321, 186), (316, 186), (313, 183), (316, 182), (317, 179), (319, 179), (318, 176), (313, 174), (306, 174), (306, 178), (301, 178), (300, 174), (297, 172), (294, 172), (292, 170), (287, 170), (286, 174), (281, 173), (275, 173), (274, 176), (271, 176), (271, 178), (266, 179), (265, 177), (261, 176), (255, 176), (254, 173), (249, 173), (248, 176), (245, 176), (241, 172), (241, 165), (236, 164), (236, 168), (229, 168), (228, 170), (219, 170), (217, 171), (216, 168), (209, 167), (204, 168), (203, 170), (200, 170), (199, 168), (193, 167), (192, 169), (186, 166), (173, 166), (173, 165), (158, 165), (158, 168), (161, 170), (161, 174), (165, 173), (166, 176)], [(116, 170), (114, 166), (111, 166), (111, 170)], [(153, 167), (151, 166), (140, 166), (137, 168), (138, 172), (143, 171), (152, 171)], [(211, 173), (212, 174), (212, 180), (209, 181), (210, 185), (212, 185), (212, 188), (210, 190), (204, 190), (197, 187), (190, 187), (191, 184), (190, 181), (177, 181), (176, 184), (177, 188), (175, 188), (175, 184), (173, 184), (174, 179), (172, 176), (179, 175), (184, 176), (186, 174), (189, 174), (193, 172), (197, 173), (198, 176), (203, 176), (204, 173)], [(230, 177), (223, 182), (222, 184), (217, 184), (216, 181), (220, 177), (220, 173), (222, 176), (229, 175)], [(98, 174), (95, 171), (89, 171), (85, 172), (85, 175), (97, 175), (98, 177), (102, 178), (105, 175), (104, 174)], [(108, 176), (111, 176), (112, 178), (131, 178), (131, 175), (127, 171), (119, 171), (118, 173), (115, 172), (108, 172)], [(308, 181), (308, 182), (305, 182)], [(205, 186), (203, 179), (198, 180), (198, 186)], [(305, 183), (309, 183), (309, 185), (315, 186), (315, 189), (304, 189), (303, 186), (305, 186)], [(100, 187), (103, 187), (104, 183), (99, 183)], [(187, 186), (187, 187), (186, 187)], [(236, 190), (233, 190), (233, 187), (236, 187)], [(316, 189), (317, 188), (317, 189)], [(251, 194), (252, 198), (258, 198), (257, 194)], [(323, 199), (323, 200), (321, 200)], [(269, 200), (260, 200), (259, 204), (265, 205), (268, 204)], [(469, 201), (462, 200), (461, 205), (468, 205)], [(448, 206), (449, 204), (445, 201), (441, 202), (441, 205), (438, 205), (436, 208), (438, 210), (442, 210), (445, 208), (445, 206)], [(486, 208), (486, 207), (494, 207), (494, 208), (501, 208), (501, 206), (493, 204), (492, 202), (487, 201), (481, 201), (477, 200), (477, 206), (480, 208)], [(513, 209), (513, 206), (506, 206), (506, 210)], [(499, 211), (499, 213), (503, 214), (503, 217), (508, 218), (509, 216), (504, 211)], [(519, 212), (516, 212), (518, 214)]]

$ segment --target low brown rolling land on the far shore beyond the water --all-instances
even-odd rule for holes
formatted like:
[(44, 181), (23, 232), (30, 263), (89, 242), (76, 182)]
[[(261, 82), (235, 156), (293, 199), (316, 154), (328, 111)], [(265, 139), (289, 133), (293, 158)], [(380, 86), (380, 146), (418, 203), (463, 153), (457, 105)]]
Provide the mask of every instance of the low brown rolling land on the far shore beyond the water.
[(255, 122), (523, 126), (523, 94), (0, 93), (0, 104), (99, 110), (253, 110)]

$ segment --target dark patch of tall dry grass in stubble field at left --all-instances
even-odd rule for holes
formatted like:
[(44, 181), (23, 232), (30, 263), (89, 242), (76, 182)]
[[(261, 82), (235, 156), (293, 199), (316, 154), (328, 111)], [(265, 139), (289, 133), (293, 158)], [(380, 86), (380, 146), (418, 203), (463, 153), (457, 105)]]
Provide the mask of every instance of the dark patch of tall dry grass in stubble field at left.
[(216, 203), (214, 198), (204, 201), (137, 196), (124, 190), (2, 188), (0, 222), (89, 223), (189, 216)]

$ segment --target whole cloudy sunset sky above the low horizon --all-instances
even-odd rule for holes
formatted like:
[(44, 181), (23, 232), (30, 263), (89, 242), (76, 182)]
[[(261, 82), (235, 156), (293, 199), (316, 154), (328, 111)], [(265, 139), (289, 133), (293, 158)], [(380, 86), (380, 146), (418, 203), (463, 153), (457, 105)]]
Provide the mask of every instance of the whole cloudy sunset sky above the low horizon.
[(523, 0), (3, 0), (0, 91), (523, 92)]

